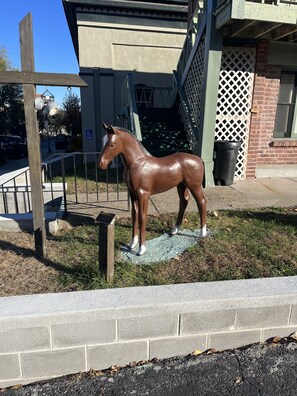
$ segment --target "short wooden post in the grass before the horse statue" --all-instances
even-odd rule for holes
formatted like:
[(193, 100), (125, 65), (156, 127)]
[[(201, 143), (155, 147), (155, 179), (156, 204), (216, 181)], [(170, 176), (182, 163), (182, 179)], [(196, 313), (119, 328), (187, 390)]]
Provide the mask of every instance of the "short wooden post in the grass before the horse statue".
[(101, 212), (96, 219), (99, 224), (99, 269), (104, 272), (107, 282), (114, 276), (114, 225), (115, 214)]

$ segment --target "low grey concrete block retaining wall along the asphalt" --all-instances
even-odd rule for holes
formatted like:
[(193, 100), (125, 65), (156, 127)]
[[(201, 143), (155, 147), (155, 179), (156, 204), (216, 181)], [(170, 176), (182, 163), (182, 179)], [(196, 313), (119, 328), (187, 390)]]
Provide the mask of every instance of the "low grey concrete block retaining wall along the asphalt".
[(0, 388), (297, 330), (297, 277), (0, 298)]

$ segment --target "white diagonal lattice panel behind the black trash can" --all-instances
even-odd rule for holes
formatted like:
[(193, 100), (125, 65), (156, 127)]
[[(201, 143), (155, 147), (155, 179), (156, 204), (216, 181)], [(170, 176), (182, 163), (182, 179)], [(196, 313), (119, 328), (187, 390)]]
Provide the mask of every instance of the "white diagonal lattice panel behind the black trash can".
[(255, 69), (255, 49), (225, 47), (222, 53), (215, 140), (241, 140), (235, 170), (245, 179)]

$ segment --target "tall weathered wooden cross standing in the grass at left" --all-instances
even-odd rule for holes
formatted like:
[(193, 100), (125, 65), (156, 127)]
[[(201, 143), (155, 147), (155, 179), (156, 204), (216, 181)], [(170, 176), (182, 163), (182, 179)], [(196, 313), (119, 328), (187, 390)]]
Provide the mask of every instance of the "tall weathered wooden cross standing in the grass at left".
[(31, 13), (27, 14), (20, 22), (19, 32), (22, 71), (0, 72), (0, 83), (23, 85), (35, 253), (37, 256), (45, 257), (46, 231), (42, 193), (41, 155), (38, 122), (34, 106), (36, 85), (87, 87), (87, 84), (76, 74), (35, 72)]

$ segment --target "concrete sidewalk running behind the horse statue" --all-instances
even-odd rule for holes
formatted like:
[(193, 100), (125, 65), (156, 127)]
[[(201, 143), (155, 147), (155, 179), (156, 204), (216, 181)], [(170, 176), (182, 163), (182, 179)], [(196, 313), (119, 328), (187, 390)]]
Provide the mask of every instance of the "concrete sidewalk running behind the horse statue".
[[(251, 209), (260, 207), (290, 207), (297, 206), (297, 177), (269, 178), (235, 181), (231, 186), (207, 187), (204, 190), (207, 199), (207, 210)], [(121, 201), (107, 202), (103, 197), (101, 202), (88, 204), (68, 204), (69, 218), (87, 216), (96, 218), (100, 211), (115, 213), (118, 217), (130, 216), (127, 206), (127, 194), (120, 194)], [(71, 197), (68, 197), (71, 201)], [(148, 213), (176, 213), (179, 198), (176, 189), (150, 197)], [(187, 211), (196, 211), (197, 206), (190, 198)]]

